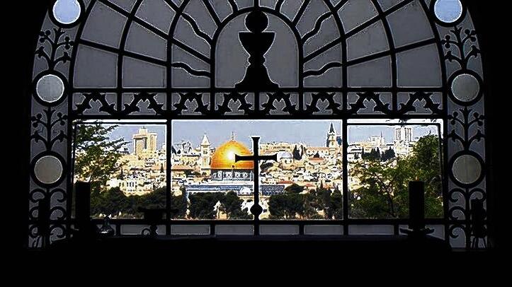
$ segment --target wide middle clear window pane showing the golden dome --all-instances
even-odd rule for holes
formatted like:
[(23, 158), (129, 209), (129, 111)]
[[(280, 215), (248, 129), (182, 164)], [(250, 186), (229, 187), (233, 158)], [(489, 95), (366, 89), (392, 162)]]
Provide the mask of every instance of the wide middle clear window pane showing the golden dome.
[(251, 136), (261, 136), (261, 219), (341, 219), (341, 121), (173, 121), (173, 196), (188, 219), (251, 219)]

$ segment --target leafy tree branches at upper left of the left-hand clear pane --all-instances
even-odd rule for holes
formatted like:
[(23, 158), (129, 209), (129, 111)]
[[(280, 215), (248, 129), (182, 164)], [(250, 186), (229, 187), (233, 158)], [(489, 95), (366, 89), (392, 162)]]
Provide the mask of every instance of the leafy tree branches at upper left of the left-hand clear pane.
[(95, 182), (103, 187), (111, 175), (124, 164), (120, 163), (122, 154), (118, 151), (127, 142), (123, 138), (110, 140), (108, 135), (117, 125), (78, 122), (74, 127), (74, 172), (80, 180)]

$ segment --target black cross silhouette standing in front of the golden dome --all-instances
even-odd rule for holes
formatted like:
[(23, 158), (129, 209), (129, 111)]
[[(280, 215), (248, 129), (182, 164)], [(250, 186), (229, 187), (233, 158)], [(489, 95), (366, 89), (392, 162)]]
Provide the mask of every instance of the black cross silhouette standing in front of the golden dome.
[(254, 221), (256, 221), (256, 224), (254, 226), (254, 234), (259, 235), (259, 216), (261, 212), (263, 211), (263, 208), (260, 206), (260, 195), (259, 195), (259, 164), (258, 162), (260, 160), (274, 160), (278, 161), (278, 155), (277, 153), (272, 156), (260, 156), (259, 155), (259, 145), (258, 141), (260, 140), (259, 136), (253, 136), (252, 142), (253, 142), (253, 155), (252, 156), (239, 156), (234, 155), (234, 162), (237, 163), (239, 161), (244, 160), (252, 160), (254, 163), (254, 205), (251, 206), (251, 213), (254, 215)]

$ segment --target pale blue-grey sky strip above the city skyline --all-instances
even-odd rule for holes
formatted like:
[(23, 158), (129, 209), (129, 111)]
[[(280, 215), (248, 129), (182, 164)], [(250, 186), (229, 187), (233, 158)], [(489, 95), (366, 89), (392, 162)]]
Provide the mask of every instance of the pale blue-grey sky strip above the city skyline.
[[(174, 120), (172, 122), (173, 144), (182, 140), (190, 141), (193, 146), (199, 146), (206, 134), (212, 147), (220, 146), (231, 139), (234, 132), (237, 141), (241, 141), (248, 148), (252, 147), (251, 136), (261, 136), (261, 143), (271, 141), (285, 141), (290, 143), (304, 143), (308, 146), (325, 146), (329, 127), (333, 123), (336, 134), (341, 133), (339, 120)], [(376, 122), (375, 119), (372, 122)], [(381, 121), (382, 122), (382, 121)], [(370, 136), (385, 137), (387, 142), (394, 140), (394, 128), (397, 126), (382, 125), (368, 126), (365, 122), (348, 126), (348, 143), (366, 141)], [(382, 122), (385, 124), (385, 122)], [(123, 137), (128, 141), (127, 147), (133, 151), (132, 136), (141, 127), (150, 132), (157, 133), (157, 146), (161, 148), (166, 141), (166, 127), (164, 124), (119, 124), (118, 128), (110, 133), (110, 139)], [(438, 134), (435, 125), (412, 125), (414, 137), (427, 134)]]

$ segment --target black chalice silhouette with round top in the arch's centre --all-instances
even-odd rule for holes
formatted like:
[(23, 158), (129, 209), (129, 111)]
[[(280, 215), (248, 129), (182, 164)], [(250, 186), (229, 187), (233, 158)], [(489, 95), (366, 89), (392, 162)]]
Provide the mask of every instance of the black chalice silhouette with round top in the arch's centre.
[(275, 33), (263, 32), (268, 26), (268, 18), (261, 11), (253, 11), (245, 18), (246, 28), (251, 32), (240, 32), (239, 40), (249, 53), (249, 66), (244, 79), (235, 85), (241, 90), (275, 90), (279, 86), (268, 77), (265, 54), (274, 42)]

